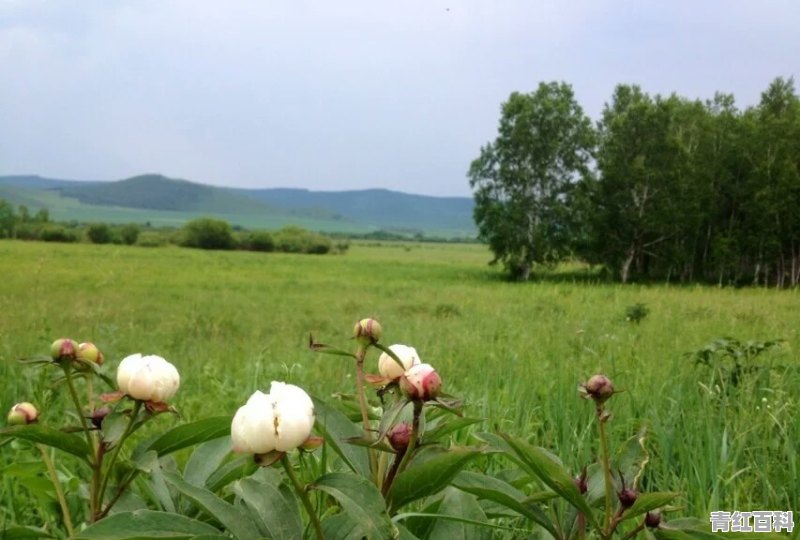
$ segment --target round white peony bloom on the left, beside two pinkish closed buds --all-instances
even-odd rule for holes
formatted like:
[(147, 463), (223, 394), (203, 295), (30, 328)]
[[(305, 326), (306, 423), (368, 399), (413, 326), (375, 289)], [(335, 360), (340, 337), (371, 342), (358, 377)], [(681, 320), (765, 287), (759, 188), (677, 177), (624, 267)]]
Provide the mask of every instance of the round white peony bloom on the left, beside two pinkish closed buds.
[(117, 384), (133, 399), (163, 403), (178, 391), (181, 378), (175, 366), (160, 356), (137, 353), (119, 363)]

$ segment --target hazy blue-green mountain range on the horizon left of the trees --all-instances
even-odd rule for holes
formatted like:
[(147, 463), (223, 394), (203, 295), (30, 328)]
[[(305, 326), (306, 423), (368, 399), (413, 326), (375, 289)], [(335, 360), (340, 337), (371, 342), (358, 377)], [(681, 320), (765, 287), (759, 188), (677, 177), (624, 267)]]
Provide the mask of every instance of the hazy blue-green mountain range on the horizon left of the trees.
[(180, 226), (200, 216), (249, 229), (298, 225), (323, 232), (387, 231), (445, 238), (476, 235), (469, 197), (430, 197), (386, 189), (309, 191), (209, 186), (144, 174), (117, 181), (0, 176), (0, 199), (52, 219)]

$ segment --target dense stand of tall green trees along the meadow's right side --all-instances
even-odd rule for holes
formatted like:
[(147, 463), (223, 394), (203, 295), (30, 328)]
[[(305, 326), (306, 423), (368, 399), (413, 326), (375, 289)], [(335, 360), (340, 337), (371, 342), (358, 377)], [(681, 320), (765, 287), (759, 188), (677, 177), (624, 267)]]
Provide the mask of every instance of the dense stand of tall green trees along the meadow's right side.
[(620, 281), (800, 283), (800, 99), (619, 85), (593, 125), (566, 83), (503, 103), (469, 169), (480, 238), (512, 276), (577, 257)]

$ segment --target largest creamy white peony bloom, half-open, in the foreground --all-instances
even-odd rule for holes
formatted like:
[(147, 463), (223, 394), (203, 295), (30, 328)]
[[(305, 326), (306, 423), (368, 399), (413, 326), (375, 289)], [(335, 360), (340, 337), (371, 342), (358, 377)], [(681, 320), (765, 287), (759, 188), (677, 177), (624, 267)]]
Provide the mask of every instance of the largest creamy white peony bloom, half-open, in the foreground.
[(273, 381), (269, 394), (256, 391), (233, 417), (234, 452), (288, 452), (302, 445), (314, 427), (314, 403), (293, 384)]

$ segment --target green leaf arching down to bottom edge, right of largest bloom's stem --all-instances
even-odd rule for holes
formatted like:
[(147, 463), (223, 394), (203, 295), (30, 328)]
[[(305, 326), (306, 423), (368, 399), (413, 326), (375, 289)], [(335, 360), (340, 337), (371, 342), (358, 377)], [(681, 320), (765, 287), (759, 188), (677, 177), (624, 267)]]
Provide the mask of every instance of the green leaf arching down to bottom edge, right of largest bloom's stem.
[(329, 473), (310, 485), (323, 491), (342, 506), (359, 527), (361, 537), (392, 538), (394, 525), (378, 489), (364, 478), (344, 473)]

